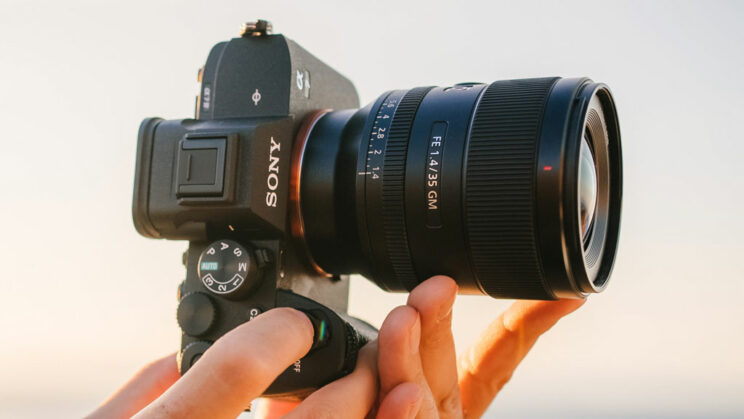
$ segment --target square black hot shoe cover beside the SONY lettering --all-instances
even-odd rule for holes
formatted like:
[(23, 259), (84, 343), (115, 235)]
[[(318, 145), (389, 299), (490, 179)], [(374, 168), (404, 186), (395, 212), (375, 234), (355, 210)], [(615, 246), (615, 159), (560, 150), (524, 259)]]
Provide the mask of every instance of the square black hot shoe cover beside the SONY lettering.
[(226, 149), (226, 138), (181, 140), (176, 195), (179, 198), (221, 196), (225, 183)]

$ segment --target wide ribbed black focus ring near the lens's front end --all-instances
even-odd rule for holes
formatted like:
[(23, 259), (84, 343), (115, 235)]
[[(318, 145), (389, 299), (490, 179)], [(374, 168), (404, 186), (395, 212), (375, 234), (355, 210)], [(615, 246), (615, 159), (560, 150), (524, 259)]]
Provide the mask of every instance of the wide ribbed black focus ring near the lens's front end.
[(475, 274), (491, 295), (553, 297), (540, 270), (534, 191), (543, 110), (557, 80), (497, 81), (475, 111), (464, 209)]

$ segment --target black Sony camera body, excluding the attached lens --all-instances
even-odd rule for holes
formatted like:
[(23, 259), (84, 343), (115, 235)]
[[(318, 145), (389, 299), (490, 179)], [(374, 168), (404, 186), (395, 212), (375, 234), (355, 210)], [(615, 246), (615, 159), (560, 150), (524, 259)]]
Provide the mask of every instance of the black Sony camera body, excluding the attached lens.
[(282, 35), (215, 45), (195, 119), (142, 122), (133, 218), (151, 238), (188, 240), (178, 288), (183, 374), (211, 343), (274, 307), (304, 311), (309, 354), (265, 395), (302, 397), (350, 372), (375, 330), (346, 315), (349, 279), (319, 272), (293, 240), (295, 138), (319, 109), (357, 108), (352, 83)]

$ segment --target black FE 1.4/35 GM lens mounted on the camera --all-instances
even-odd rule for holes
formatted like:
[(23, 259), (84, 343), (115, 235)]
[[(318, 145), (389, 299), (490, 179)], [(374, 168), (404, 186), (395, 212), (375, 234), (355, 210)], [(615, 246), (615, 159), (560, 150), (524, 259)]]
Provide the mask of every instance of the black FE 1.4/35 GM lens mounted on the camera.
[(615, 104), (589, 79), (394, 90), (318, 111), (295, 143), (291, 227), (310, 265), (390, 291), (582, 298), (615, 259)]

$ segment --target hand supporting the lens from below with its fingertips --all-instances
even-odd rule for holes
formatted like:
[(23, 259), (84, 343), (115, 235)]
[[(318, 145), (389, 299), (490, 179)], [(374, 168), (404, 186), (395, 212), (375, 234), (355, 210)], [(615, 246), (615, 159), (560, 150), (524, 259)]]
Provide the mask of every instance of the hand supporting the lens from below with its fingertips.
[(584, 300), (517, 301), (459, 361), (452, 338), (457, 285), (432, 277), (394, 309), (378, 337), (378, 418), (480, 417), (541, 334)]

